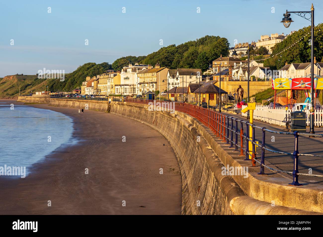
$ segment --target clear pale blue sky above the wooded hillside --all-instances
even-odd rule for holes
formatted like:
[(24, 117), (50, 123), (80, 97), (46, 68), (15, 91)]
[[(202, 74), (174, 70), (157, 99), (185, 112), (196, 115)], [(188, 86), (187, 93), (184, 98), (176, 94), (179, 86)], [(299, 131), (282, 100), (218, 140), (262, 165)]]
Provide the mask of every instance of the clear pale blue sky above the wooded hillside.
[(0, 77), (43, 68), (69, 73), (85, 63), (112, 64), (205, 35), (225, 37), (231, 46), (286, 35), (310, 25), (292, 14), (294, 22), (285, 28), (280, 21), (286, 9), (310, 11), (312, 2), (315, 24), (321, 23), (322, 0), (1, 0)]

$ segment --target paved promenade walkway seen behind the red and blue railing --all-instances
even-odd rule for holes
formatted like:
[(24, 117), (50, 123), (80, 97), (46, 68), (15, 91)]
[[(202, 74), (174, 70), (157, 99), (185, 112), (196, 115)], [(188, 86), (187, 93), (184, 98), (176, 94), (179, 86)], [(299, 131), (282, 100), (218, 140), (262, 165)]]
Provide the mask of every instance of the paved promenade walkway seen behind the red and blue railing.
[[(238, 119), (242, 119), (247, 121), (246, 117), (239, 115), (239, 114), (228, 114), (222, 113), (225, 115), (233, 116)], [(227, 120), (226, 120), (227, 122)], [(265, 123), (262, 121), (254, 120), (254, 124), (259, 127), (266, 127), (269, 130), (274, 131), (281, 131), (285, 132), (283, 129), (285, 127)], [(230, 121), (231, 127), (231, 121)], [(235, 129), (235, 122), (234, 122), (234, 129)], [(238, 131), (240, 132), (240, 123), (238, 122)], [(322, 127), (315, 127), (315, 133), (323, 134)], [(307, 132), (309, 132), (309, 127), (307, 127)], [(246, 127), (244, 124), (244, 135), (246, 134)], [(230, 135), (231, 138), (231, 135)], [(274, 139), (273, 139), (274, 138)], [(235, 139), (235, 137), (234, 137)], [(255, 129), (255, 139), (259, 141), (261, 144), (262, 141), (262, 131), (260, 129)], [(240, 137), (238, 136), (238, 142), (240, 143)], [(309, 138), (305, 136), (299, 136), (298, 139), (298, 151), (299, 153), (307, 153), (307, 154), (323, 154), (323, 138)], [(266, 139), (265, 139), (266, 148), (280, 151), (280, 152), (294, 152), (294, 145), (295, 145), (295, 138), (293, 135), (286, 135), (286, 134), (276, 134), (276, 133), (269, 133), (266, 132)], [(245, 140), (244, 140), (244, 147), (245, 147)], [(257, 148), (257, 158), (260, 159), (260, 149)], [(291, 155), (283, 155), (273, 152), (265, 151), (265, 158), (266, 164), (272, 164), (271, 167), (278, 168), (283, 171), (293, 172), (293, 165), (294, 159)], [(256, 163), (259, 166), (259, 163)], [(312, 169), (312, 174), (323, 175), (323, 158), (321, 157), (311, 157), (311, 156), (300, 156), (298, 159), (298, 171), (299, 173), (309, 173), (309, 169)], [(259, 168), (260, 170), (260, 168)], [(259, 172), (259, 171), (258, 171)], [(272, 173), (272, 171), (265, 168), (265, 173)], [(292, 178), (291, 175), (286, 173), (280, 173), (283, 176), (287, 176)], [(323, 178), (321, 177), (314, 177), (314, 176), (299, 176), (299, 182), (305, 183), (317, 183), (323, 185)]]

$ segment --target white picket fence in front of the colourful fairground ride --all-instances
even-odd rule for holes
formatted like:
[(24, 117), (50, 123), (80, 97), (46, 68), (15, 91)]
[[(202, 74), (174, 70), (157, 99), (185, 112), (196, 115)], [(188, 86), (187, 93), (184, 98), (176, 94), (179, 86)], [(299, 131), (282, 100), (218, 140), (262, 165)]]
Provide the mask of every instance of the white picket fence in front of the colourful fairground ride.
[[(242, 106), (242, 109), (247, 107), (246, 105)], [(309, 126), (309, 110), (303, 110), (306, 112), (306, 125)], [(269, 108), (268, 105), (262, 106), (257, 105), (254, 110), (254, 119), (264, 121), (266, 123), (286, 126), (286, 123), (283, 123), (285, 118), (290, 118), (290, 109), (286, 110), (285, 108)], [(242, 116), (247, 116), (246, 113), (242, 113)], [(314, 111), (314, 126), (323, 126), (323, 111), (315, 110)]]

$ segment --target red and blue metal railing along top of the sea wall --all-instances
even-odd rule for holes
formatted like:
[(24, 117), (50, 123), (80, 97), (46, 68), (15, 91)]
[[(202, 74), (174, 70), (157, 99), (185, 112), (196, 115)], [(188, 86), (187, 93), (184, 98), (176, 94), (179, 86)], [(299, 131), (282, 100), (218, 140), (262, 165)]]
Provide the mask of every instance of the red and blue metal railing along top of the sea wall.
[[(139, 104), (148, 104), (149, 102), (154, 102), (153, 100), (138, 100), (138, 99), (124, 99), (124, 102), (131, 102), (131, 103), (139, 103)], [(258, 174), (265, 174), (265, 168), (277, 172), (288, 173), (293, 176), (293, 182), (289, 183), (293, 186), (300, 186), (302, 184), (298, 183), (298, 176), (305, 175), (305, 176), (316, 176), (316, 177), (323, 177), (323, 175), (316, 175), (316, 174), (306, 174), (306, 173), (299, 173), (298, 172), (298, 157), (299, 156), (314, 156), (314, 157), (323, 157), (323, 155), (315, 155), (315, 154), (305, 154), (300, 153), (298, 151), (298, 137), (299, 136), (315, 136), (315, 137), (323, 137), (323, 134), (311, 134), (311, 133), (299, 133), (299, 132), (279, 132), (266, 129), (266, 127), (259, 127), (255, 124), (251, 124), (248, 121), (244, 121), (241, 119), (234, 118), (230, 115), (225, 115), (219, 112), (215, 112), (213, 110), (209, 110), (207, 108), (202, 108), (197, 105), (187, 104), (187, 103), (176, 103), (175, 102), (175, 110), (179, 112), (183, 112), (193, 116), (194, 118), (198, 119), (202, 122), (206, 127), (210, 128), (212, 133), (221, 140), (221, 142), (228, 145), (229, 148), (233, 148), (234, 151), (239, 152), (240, 156), (245, 156), (246, 161), (251, 161), (252, 166), (256, 166), (256, 163), (260, 165), (260, 172)], [(240, 129), (238, 124), (240, 124)], [(246, 133), (244, 134), (244, 126), (246, 128)], [(250, 129), (251, 126), (251, 129)], [(262, 139), (261, 141), (257, 141), (255, 139), (255, 129), (260, 129), (262, 131)], [(249, 131), (252, 131), (252, 136), (250, 136)], [(276, 134), (287, 134), (293, 135), (295, 138), (294, 142), (294, 152), (281, 152), (275, 151), (273, 149), (266, 148), (266, 132), (269, 133), (276, 133)], [(240, 137), (240, 141), (238, 139)], [(244, 146), (245, 143), (245, 146)], [(259, 144), (261, 143), (261, 145)], [(249, 152), (249, 145), (252, 145), (252, 152)], [(256, 146), (261, 149), (260, 154), (260, 161), (256, 157)], [(269, 167), (265, 164), (265, 151), (285, 154), (285, 155), (292, 155), (294, 159), (294, 170), (293, 172), (283, 171), (279, 169), (274, 169)], [(250, 159), (251, 157), (251, 159)]]

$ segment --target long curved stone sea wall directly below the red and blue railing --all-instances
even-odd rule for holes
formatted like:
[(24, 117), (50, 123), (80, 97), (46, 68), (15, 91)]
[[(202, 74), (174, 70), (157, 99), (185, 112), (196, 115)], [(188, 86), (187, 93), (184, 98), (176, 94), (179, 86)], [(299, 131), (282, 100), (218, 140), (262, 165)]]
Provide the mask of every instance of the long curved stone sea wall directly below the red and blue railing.
[[(171, 143), (182, 175), (182, 214), (318, 214), (306, 211), (310, 209), (277, 205), (293, 202), (304, 190), (279, 190), (272, 183), (258, 182), (250, 174), (248, 178), (223, 175), (222, 167), (236, 167), (239, 163), (215, 142), (210, 130), (187, 114), (149, 111), (148, 105), (127, 102), (111, 102), (110, 113), (145, 123)], [(288, 194), (284, 199), (287, 202), (277, 201), (274, 206), (266, 202), (275, 200), (277, 192)]]

